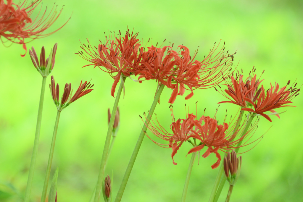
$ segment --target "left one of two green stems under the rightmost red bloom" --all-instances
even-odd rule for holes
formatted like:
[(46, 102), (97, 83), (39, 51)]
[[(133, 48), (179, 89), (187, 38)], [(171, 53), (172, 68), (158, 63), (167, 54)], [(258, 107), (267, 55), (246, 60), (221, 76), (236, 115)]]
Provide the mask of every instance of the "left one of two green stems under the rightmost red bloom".
[[(238, 128), (240, 127), (240, 123), (241, 123), (241, 120), (242, 120), (242, 117), (243, 117), (243, 114), (244, 112), (243, 111), (240, 111), (240, 114), (237, 118), (237, 122), (235, 124), (235, 128), (233, 130), (233, 134), (238, 130)], [(217, 174), (217, 177), (215, 179), (215, 184), (214, 184), (214, 187), (212, 188), (211, 190), (211, 195), (209, 197), (209, 202), (213, 202), (213, 201), (217, 201), (218, 200), (218, 197), (220, 196), (221, 194), (221, 191), (222, 191), (222, 188), (225, 184), (225, 177), (222, 175), (223, 174), (223, 171), (224, 171), (224, 167), (223, 167), (223, 160), (222, 159), (222, 162), (221, 162), (221, 165), (219, 167), (219, 171), (218, 171), (218, 174)], [(223, 179), (222, 179), (223, 178)], [(221, 181), (221, 183), (220, 183)], [(220, 186), (219, 186), (219, 183), (220, 183)], [(224, 183), (222, 185), (222, 183)], [(219, 188), (218, 188), (219, 187)], [(215, 200), (216, 199), (216, 200)]]

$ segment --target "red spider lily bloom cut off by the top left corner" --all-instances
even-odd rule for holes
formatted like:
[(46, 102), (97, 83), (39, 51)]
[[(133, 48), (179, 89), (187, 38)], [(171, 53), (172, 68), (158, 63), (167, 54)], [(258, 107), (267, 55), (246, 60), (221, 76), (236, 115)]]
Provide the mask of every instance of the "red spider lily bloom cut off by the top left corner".
[[(57, 15), (56, 8), (53, 6), (50, 13), (46, 13), (46, 9), (43, 12), (41, 18), (38, 16), (32, 18), (32, 13), (35, 8), (40, 4), (42, 0), (35, 0), (29, 5), (27, 0), (23, 3), (15, 4), (12, 0), (7, 0), (5, 4), (3, 0), (0, 1), (0, 39), (6, 38), (8, 41), (13, 43), (23, 44), (26, 54), (26, 43), (25, 38), (35, 39), (51, 35), (61, 29), (64, 25), (55, 31), (48, 34), (42, 34), (43, 31), (48, 29), (59, 17), (62, 9)], [(41, 8), (39, 14), (41, 12)], [(39, 15), (38, 14), (38, 15)], [(25, 56), (21, 55), (22, 57)]]

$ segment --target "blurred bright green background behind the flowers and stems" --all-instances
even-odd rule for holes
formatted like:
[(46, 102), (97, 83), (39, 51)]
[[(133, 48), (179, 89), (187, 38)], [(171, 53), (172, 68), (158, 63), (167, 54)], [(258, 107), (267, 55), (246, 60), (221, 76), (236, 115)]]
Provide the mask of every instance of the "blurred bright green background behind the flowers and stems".
[[(53, 0), (43, 1), (52, 7)], [(257, 68), (260, 75), (265, 69), (263, 85), (278, 82), (284, 86), (288, 80), (302, 84), (303, 18), (302, 1), (71, 1), (56, 2), (63, 12), (46, 33), (70, 21), (59, 31), (46, 38), (27, 44), (38, 54), (42, 45), (49, 54), (58, 42), (56, 64), (52, 71), (61, 89), (65, 83), (78, 88), (83, 80), (95, 84), (92, 93), (66, 108), (60, 117), (51, 177), (59, 167), (58, 201), (88, 201), (95, 187), (100, 166), (105, 134), (107, 109), (114, 98), (110, 96), (113, 79), (99, 68), (82, 66), (88, 62), (75, 55), (80, 41), (86, 38), (92, 45), (104, 41), (104, 32), (126, 27), (139, 32), (138, 38), (165, 45), (186, 45), (193, 53), (199, 46), (198, 60), (208, 54), (215, 41), (226, 41), (226, 48), (235, 55), (234, 64), (245, 74)], [(34, 14), (33, 14), (34, 16)], [(167, 42), (167, 43), (166, 43)], [(10, 45), (6, 43), (5, 45)], [(24, 194), (32, 154), (35, 125), (42, 77), (35, 70), (21, 45), (0, 46), (0, 187), (1, 191)], [(47, 85), (50, 83), (50, 76)], [(299, 85), (299, 86), (300, 86)], [(113, 195), (117, 193), (133, 147), (142, 127), (139, 114), (148, 111), (156, 89), (155, 81), (142, 84), (127, 79), (125, 98), (120, 100), (121, 124), (108, 162), (106, 174), (114, 173)], [(62, 92), (61, 92), (62, 93)], [(157, 106), (162, 125), (171, 122), (168, 99), (171, 90), (165, 88), (161, 104)], [(198, 116), (213, 116), (218, 102), (226, 100), (214, 88), (194, 91), (190, 100), (178, 96), (174, 103), (176, 118), (184, 118), (186, 104), (194, 112), (198, 101)], [(232, 201), (303, 201), (303, 114), (301, 95), (293, 103), (297, 108), (280, 108), (281, 119), (271, 117), (270, 123), (260, 118), (254, 134), (261, 142), (242, 154), (242, 170), (231, 196)], [(222, 121), (225, 110), (235, 115), (238, 107), (221, 104), (217, 119)], [(56, 107), (46, 87), (39, 153), (32, 190), (33, 201), (40, 201), (50, 141), (55, 123)], [(156, 139), (155, 139), (156, 140)], [(122, 201), (179, 201), (184, 186), (190, 156), (185, 158), (190, 145), (184, 144), (175, 155), (173, 165), (171, 149), (157, 146), (145, 138), (139, 151)], [(245, 149), (243, 149), (245, 150)], [(242, 150), (241, 150), (242, 151)], [(203, 154), (203, 153), (201, 153)], [(211, 154), (195, 162), (188, 188), (187, 201), (208, 201), (218, 169), (212, 170), (216, 157)], [(4, 185), (3, 185), (4, 184)], [(14, 187), (9, 189), (8, 187)], [(219, 201), (224, 201), (228, 186)], [(0, 191), (0, 196), (4, 195)], [(3, 201), (19, 201), (10, 197)]]

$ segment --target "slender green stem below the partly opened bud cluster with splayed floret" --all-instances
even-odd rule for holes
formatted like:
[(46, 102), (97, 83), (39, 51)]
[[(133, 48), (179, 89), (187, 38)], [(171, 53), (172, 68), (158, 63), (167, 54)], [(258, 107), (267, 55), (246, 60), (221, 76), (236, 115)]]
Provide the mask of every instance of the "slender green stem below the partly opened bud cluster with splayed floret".
[(52, 167), (52, 161), (53, 161), (53, 155), (54, 155), (54, 149), (55, 149), (55, 142), (56, 142), (56, 136), (57, 136), (60, 113), (61, 113), (61, 111), (58, 111), (57, 116), (56, 116), (55, 127), (54, 127), (54, 132), (53, 132), (53, 137), (52, 137), (52, 143), (51, 143), (51, 149), (49, 151), (48, 163), (47, 163), (44, 185), (43, 185), (43, 190), (42, 190), (42, 195), (41, 195), (41, 202), (45, 202), (45, 199), (46, 199), (48, 180), (49, 180), (49, 175), (51, 174), (51, 167)]

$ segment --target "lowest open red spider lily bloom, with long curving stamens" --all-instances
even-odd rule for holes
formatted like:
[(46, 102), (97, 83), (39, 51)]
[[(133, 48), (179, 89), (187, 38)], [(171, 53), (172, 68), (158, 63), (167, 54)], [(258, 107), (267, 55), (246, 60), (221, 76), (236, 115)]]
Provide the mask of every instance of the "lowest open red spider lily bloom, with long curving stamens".
[[(171, 157), (173, 159), (173, 164), (175, 165), (177, 163), (174, 161), (174, 156), (185, 141), (188, 141), (194, 146), (188, 151), (188, 154), (201, 151), (205, 146), (208, 147), (202, 157), (206, 158), (210, 153), (216, 154), (218, 160), (211, 166), (212, 169), (218, 167), (221, 161), (221, 155), (218, 153), (218, 150), (226, 152), (226, 150), (237, 148), (236, 145), (239, 142), (243, 141), (244, 138), (246, 138), (247, 141), (238, 147), (243, 147), (251, 144), (247, 144), (247, 142), (251, 138), (253, 131), (256, 129), (258, 121), (256, 120), (251, 128), (245, 134), (242, 134), (242, 137), (240, 137), (241, 133), (244, 130), (246, 121), (244, 121), (243, 124), (235, 130), (235, 123), (232, 124), (230, 122), (227, 124), (224, 122), (223, 125), (219, 125), (218, 122), (213, 118), (202, 116), (199, 120), (197, 120), (196, 116), (193, 114), (187, 114), (188, 117), (186, 119), (178, 119), (175, 121), (172, 108), (171, 116), (173, 119), (173, 122), (170, 125), (172, 134), (161, 126), (157, 118), (157, 124), (152, 120), (153, 124), (150, 123), (148, 126), (148, 129), (151, 131), (151, 133), (155, 134), (157, 137), (160, 137), (163, 140), (168, 141), (169, 144), (158, 143), (152, 140), (147, 135), (147, 133), (146, 135), (159, 146), (172, 148)], [(194, 143), (190, 140), (190, 138), (194, 139)], [(200, 143), (197, 145), (196, 141), (200, 141)]]

